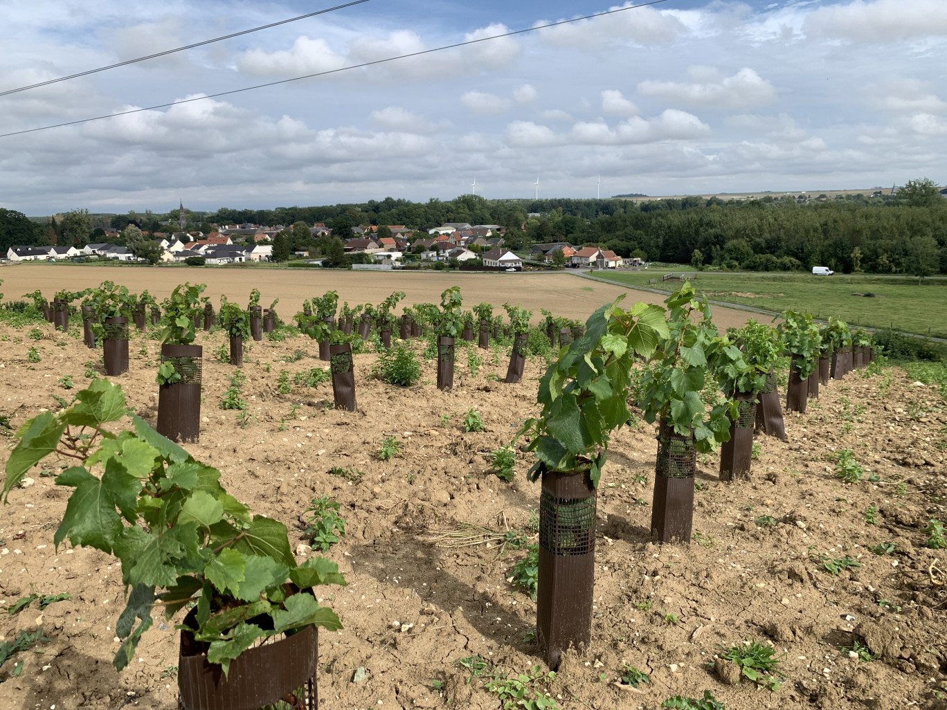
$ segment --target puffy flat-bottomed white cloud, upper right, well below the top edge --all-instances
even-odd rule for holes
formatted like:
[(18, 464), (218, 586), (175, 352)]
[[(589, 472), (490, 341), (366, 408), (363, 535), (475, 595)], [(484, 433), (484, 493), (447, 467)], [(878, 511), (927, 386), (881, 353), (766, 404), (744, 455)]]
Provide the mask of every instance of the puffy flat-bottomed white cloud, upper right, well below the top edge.
[(773, 85), (753, 69), (744, 67), (732, 77), (722, 77), (717, 70), (701, 66), (690, 67), (688, 73), (694, 80), (690, 83), (642, 81), (638, 92), (649, 98), (714, 109), (759, 106), (776, 100)]

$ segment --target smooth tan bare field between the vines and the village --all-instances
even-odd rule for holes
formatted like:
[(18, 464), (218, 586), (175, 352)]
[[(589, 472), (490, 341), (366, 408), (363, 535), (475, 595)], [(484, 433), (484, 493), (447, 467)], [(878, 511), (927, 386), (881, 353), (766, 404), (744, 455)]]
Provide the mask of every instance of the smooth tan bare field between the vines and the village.
[[(357, 272), (322, 269), (252, 269), (252, 268), (197, 268), (147, 266), (80, 266), (54, 264), (19, 264), (0, 269), (4, 279), (3, 293), (8, 300), (23, 293), (40, 289), (50, 297), (55, 291), (80, 291), (98, 286), (110, 279), (123, 284), (134, 293), (148, 289), (159, 300), (184, 281), (207, 284), (211, 301), (216, 306), (221, 293), (231, 300), (242, 302), (251, 289), (262, 294), (260, 302), (266, 306), (279, 299), (277, 311), (287, 318), (302, 310), (302, 302), (314, 295), (335, 290), (340, 304), (380, 303), (395, 291), (406, 293), (405, 305), (439, 303), (440, 293), (451, 286), (459, 286), (464, 296), (464, 307), (489, 302), (500, 308), (504, 303), (519, 303), (533, 311), (534, 320), (540, 320), (539, 310), (545, 308), (557, 315), (584, 321), (599, 306), (614, 300), (619, 293), (627, 293), (626, 303), (645, 301), (663, 303), (664, 296), (626, 289), (596, 281), (587, 281), (570, 274), (465, 274), (461, 272)], [(714, 322), (721, 329), (739, 328), (750, 313), (715, 307)], [(765, 318), (766, 316), (759, 316)]]

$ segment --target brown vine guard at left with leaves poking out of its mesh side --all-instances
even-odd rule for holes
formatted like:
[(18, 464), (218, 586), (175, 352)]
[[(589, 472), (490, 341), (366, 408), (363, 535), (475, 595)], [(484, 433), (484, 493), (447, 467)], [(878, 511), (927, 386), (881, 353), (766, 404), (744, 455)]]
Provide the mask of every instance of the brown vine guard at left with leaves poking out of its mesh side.
[(170, 363), (179, 382), (158, 387), (158, 434), (171, 441), (196, 443), (201, 436), (203, 346), (161, 346), (161, 363)]

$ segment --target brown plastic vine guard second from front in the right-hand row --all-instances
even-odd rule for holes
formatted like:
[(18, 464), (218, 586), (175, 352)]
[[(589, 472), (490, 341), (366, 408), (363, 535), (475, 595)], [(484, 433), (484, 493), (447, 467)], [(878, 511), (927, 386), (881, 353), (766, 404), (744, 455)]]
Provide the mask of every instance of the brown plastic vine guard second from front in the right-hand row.
[(694, 433), (679, 435), (662, 420), (657, 441), (652, 539), (689, 544), (694, 517), (694, 470), (697, 468)]

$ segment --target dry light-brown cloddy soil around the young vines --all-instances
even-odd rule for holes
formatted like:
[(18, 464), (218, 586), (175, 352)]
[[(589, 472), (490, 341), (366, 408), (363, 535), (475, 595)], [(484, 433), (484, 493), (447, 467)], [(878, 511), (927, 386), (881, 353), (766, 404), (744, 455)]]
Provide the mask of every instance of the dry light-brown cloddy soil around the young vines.
[[(577, 293), (583, 285), (563, 279)], [(307, 290), (325, 288), (319, 281)], [(594, 297), (602, 296), (597, 288)], [(69, 396), (58, 384), (64, 375), (82, 387), (89, 382), (83, 364), (93, 361), (98, 368), (98, 352), (73, 334), (40, 330), (43, 339), (33, 341), (25, 329), (0, 327), (0, 415), (10, 417), (14, 429), (41, 408), (57, 406), (52, 394)], [(530, 462), (519, 453), (517, 475), (508, 484), (491, 474), (488, 454), (508, 443), (521, 419), (535, 411), (536, 378), (545, 363), (527, 363), (523, 382), (508, 385), (487, 379), (505, 374), (506, 352), (498, 352), (495, 363), (488, 354), (473, 376), (458, 348), (455, 390), (442, 393), (433, 383), (433, 363), (424, 364), (417, 386), (401, 388), (370, 379), (375, 356), (358, 355), (360, 411), (350, 414), (327, 408), (329, 383), (277, 395), (281, 369), (293, 374), (324, 364), (306, 338), (264, 340), (245, 357), (244, 394), (253, 418), (241, 429), (235, 412), (219, 409), (233, 372), (212, 357), (223, 342), (222, 333), (199, 338), (205, 346), (205, 420), (200, 443), (188, 450), (218, 467), (239, 500), (287, 524), (294, 545), (305, 543), (300, 516), (313, 496), (329, 493), (348, 522), (344, 540), (327, 553), (348, 587), (321, 590), (345, 626), (321, 634), (322, 706), (435, 708), (450, 698), (454, 707), (499, 708), (479, 680), (465, 683), (467, 675), (454, 662), (478, 654), (510, 674), (541, 663), (535, 645), (522, 638), (535, 624), (535, 604), (507, 581), (525, 553), (486, 545), (449, 548), (434, 538), (461, 523), (526, 529), (539, 501), (538, 486), (524, 477)], [(33, 345), (40, 363), (27, 362)], [(130, 345), (131, 372), (115, 382), (153, 422), (159, 346), (141, 337)], [(306, 355), (281, 362), (297, 350)], [(471, 407), (485, 431), (463, 431), (461, 417)], [(446, 425), (442, 415), (449, 415)], [(945, 424), (938, 394), (907, 381), (900, 369), (832, 382), (806, 415), (786, 418), (788, 441), (759, 437), (752, 482), (721, 483), (716, 455), (700, 462), (697, 539), (689, 546), (649, 541), (654, 432), (643, 422), (622, 430), (599, 488), (592, 644), (566, 654), (549, 688), (552, 697), (562, 708), (651, 710), (670, 696), (698, 698), (709, 689), (728, 710), (947, 707), (932, 693), (947, 683), (947, 594), (938, 573), (947, 569), (947, 553), (925, 547), (922, 533), (929, 519), (947, 521)], [(374, 453), (387, 435), (401, 443), (402, 454), (383, 462)], [(863, 482), (849, 485), (833, 475), (829, 457), (840, 448), (855, 452), (866, 470)], [(34, 603), (19, 614), (0, 613), (3, 639), (40, 625), (49, 639), (38, 647), (42, 654), (20, 654), (25, 663), (19, 676), (11, 675), (14, 661), (0, 668), (0, 707), (175, 708), (174, 624), (180, 619), (165, 622), (156, 614), (137, 661), (116, 672), (114, 629), (124, 607), (120, 570), (115, 559), (95, 550), (55, 549), (67, 492), (52, 485), (54, 464), (30, 472), (27, 486), (14, 490), (9, 506), (0, 509), (0, 599), (9, 607), (31, 592), (72, 598), (45, 612)], [(329, 473), (333, 466), (364, 475), (348, 482)], [(868, 482), (871, 474), (880, 480)], [(877, 524), (866, 523), (868, 506), (879, 508)], [(777, 524), (759, 527), (760, 515)], [(884, 541), (898, 543), (896, 554), (867, 550)], [(300, 560), (312, 554), (304, 546), (297, 552)], [(861, 566), (833, 577), (811, 559), (817, 555), (848, 555)], [(734, 680), (726, 666), (720, 674), (712, 668), (720, 645), (751, 639), (785, 653), (787, 680), (775, 694), (745, 680), (724, 683), (721, 676)], [(850, 658), (842, 647), (854, 640), (881, 657), (867, 663)], [(640, 693), (610, 684), (622, 663), (649, 673), (651, 683)], [(359, 667), (366, 679), (353, 683)], [(434, 680), (444, 683), (442, 691)]]

